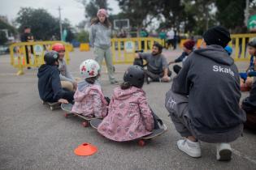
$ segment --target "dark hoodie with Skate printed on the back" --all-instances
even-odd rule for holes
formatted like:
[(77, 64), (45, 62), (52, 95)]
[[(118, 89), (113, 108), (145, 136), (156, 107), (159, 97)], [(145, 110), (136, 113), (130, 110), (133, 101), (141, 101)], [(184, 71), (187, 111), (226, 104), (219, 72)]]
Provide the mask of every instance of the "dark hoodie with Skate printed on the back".
[(189, 96), (191, 125), (201, 134), (225, 133), (245, 121), (237, 67), (219, 45), (191, 53), (171, 89)]

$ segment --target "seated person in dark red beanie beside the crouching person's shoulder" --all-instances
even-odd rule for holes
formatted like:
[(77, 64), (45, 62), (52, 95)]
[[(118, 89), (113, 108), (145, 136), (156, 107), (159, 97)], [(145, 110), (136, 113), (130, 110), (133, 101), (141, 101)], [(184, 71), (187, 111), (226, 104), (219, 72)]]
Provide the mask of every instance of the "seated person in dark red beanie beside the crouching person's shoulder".
[[(169, 62), (169, 65), (171, 65), (173, 63), (177, 63), (177, 62), (184, 63), (184, 61), (187, 59), (189, 54), (193, 52), (194, 45), (195, 45), (194, 40), (186, 40), (183, 44), (183, 53), (181, 53), (180, 57), (178, 57), (175, 61)], [(179, 66), (179, 65), (173, 66), (173, 70), (176, 74), (178, 74), (180, 72), (180, 69), (181, 69), (181, 66)]]

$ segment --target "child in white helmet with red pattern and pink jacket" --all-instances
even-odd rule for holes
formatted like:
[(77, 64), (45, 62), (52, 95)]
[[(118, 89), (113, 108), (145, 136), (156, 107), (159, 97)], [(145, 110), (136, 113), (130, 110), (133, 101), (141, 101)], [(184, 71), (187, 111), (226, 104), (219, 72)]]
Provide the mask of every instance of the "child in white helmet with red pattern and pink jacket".
[(107, 102), (97, 82), (99, 72), (100, 66), (94, 60), (85, 60), (80, 64), (80, 74), (85, 81), (78, 83), (72, 112), (85, 117), (106, 117)]

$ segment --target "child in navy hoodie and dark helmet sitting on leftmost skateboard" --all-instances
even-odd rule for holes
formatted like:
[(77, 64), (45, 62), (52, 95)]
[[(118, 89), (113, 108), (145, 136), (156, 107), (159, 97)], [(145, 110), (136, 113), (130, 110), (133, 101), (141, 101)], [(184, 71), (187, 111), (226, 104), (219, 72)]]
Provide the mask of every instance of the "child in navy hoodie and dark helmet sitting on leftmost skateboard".
[(39, 67), (38, 91), (41, 100), (46, 102), (72, 103), (74, 92), (61, 87), (59, 79), (59, 53), (50, 51), (45, 54), (46, 64)]

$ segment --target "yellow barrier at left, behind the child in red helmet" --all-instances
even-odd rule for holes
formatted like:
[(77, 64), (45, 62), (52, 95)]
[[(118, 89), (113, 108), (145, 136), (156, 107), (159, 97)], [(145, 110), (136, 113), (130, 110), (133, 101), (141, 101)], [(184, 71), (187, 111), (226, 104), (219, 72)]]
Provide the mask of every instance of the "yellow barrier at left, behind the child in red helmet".
[(51, 50), (55, 43), (65, 45), (65, 60), (69, 64), (69, 52), (72, 46), (63, 41), (36, 41), (20, 42), (10, 45), (11, 65), (18, 69), (17, 74), (24, 74), (24, 67), (37, 67), (44, 64), (44, 55), (46, 51)]

